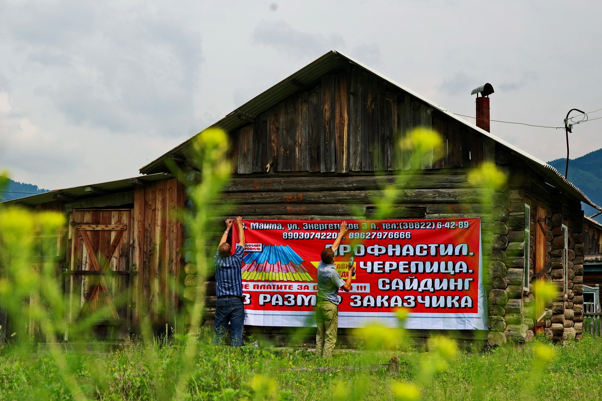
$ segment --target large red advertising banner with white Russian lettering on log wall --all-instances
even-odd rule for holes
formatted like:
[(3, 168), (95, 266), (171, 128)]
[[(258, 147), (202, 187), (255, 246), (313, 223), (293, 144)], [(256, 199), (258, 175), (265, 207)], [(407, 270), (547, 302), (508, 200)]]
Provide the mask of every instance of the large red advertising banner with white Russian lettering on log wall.
[[(311, 326), (320, 252), (338, 221), (243, 220), (246, 325)], [(339, 291), (339, 327), (379, 321), (409, 329), (486, 329), (480, 219), (348, 221), (335, 253), (349, 292)], [(237, 229), (232, 230), (238, 243)]]

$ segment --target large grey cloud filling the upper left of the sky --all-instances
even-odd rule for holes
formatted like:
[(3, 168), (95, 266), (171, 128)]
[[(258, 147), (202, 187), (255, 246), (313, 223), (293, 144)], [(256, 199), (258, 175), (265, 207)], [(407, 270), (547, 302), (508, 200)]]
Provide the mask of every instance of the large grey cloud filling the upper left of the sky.
[(202, 41), (173, 11), (79, 1), (12, 10), (7, 31), (32, 92), (67, 122), (172, 135), (194, 119)]

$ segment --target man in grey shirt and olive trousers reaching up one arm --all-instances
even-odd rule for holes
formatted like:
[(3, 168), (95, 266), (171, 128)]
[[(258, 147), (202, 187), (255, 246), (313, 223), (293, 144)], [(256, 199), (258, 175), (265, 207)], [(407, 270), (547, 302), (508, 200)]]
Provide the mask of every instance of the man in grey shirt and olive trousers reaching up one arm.
[(332, 355), (332, 350), (337, 343), (338, 291), (340, 288), (343, 288), (344, 291), (351, 290), (353, 264), (349, 266), (346, 281), (341, 278), (337, 272), (337, 266), (334, 264), (335, 251), (346, 233), (347, 222), (342, 222), (337, 239), (332, 247), (326, 248), (320, 253), (321, 261), (318, 263), (318, 296), (315, 305), (315, 321), (318, 331), (315, 335), (315, 352), (324, 358)]

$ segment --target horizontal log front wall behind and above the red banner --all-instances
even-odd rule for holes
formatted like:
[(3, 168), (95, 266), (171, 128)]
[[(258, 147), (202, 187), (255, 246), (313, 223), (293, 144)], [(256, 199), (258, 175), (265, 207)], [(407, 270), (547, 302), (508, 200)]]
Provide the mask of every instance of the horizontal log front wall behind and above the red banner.
[[(270, 173), (235, 175), (225, 188), (223, 201), (232, 202), (230, 216), (269, 220), (354, 220), (370, 219), (384, 187), (400, 190), (398, 201), (388, 219), (440, 219), (480, 217), (483, 227), (492, 227), (492, 211), (483, 204), (482, 190), (468, 182), (468, 169), (400, 171), (397, 175), (347, 173)], [(359, 214), (355, 214), (358, 213)], [(217, 223), (211, 252), (217, 249), (223, 231), (223, 219)], [(194, 272), (194, 266), (187, 264)], [(194, 274), (194, 273), (193, 273)], [(188, 276), (187, 276), (188, 277)], [(193, 277), (190, 278), (193, 282)], [(213, 327), (217, 302), (215, 283), (209, 278), (206, 288), (205, 323)], [(296, 329), (249, 327), (247, 332), (270, 335), (286, 343), (287, 334)], [(341, 341), (348, 339), (340, 329)], [(315, 334), (315, 333), (314, 333)], [(314, 334), (308, 336), (311, 340)], [(425, 335), (421, 332), (420, 335)], [(463, 338), (474, 333), (464, 332)]]

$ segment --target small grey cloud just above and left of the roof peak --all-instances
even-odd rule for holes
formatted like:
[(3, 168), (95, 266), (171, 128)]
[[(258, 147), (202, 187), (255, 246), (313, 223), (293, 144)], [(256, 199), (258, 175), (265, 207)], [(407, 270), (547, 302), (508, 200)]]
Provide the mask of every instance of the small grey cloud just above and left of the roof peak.
[(253, 31), (252, 39), (257, 43), (272, 46), (278, 51), (299, 57), (304, 54), (323, 54), (330, 49), (340, 48), (345, 41), (340, 34), (321, 34), (294, 29), (284, 20), (262, 21)]

